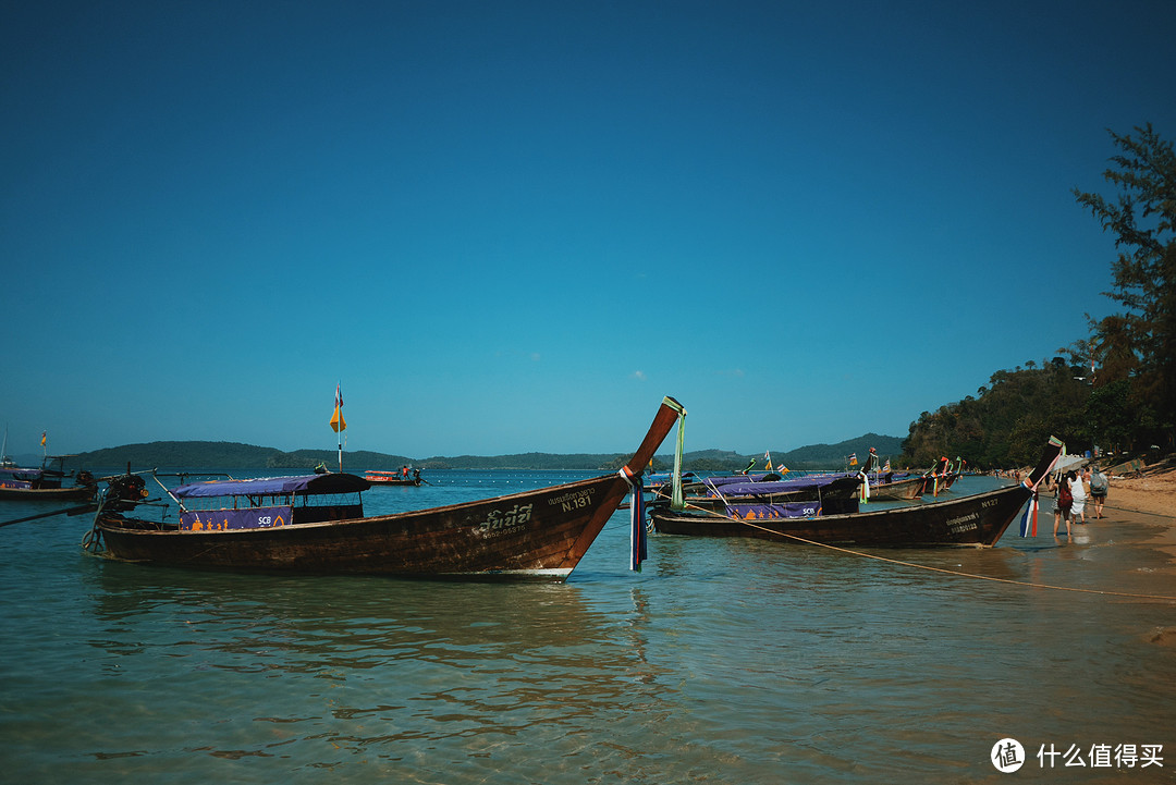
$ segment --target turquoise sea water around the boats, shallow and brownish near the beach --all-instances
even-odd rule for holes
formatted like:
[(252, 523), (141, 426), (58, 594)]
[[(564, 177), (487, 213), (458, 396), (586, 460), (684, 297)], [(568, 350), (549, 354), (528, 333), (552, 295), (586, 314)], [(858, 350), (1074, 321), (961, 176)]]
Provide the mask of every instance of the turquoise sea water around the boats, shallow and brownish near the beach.
[[(592, 474), (433, 471), (365, 502)], [(2, 503), (0, 521), (44, 509)], [(1014, 523), (990, 550), (871, 551), (1005, 583), (659, 535), (630, 572), (620, 511), (564, 584), (136, 566), (83, 553), (85, 517), (15, 524), (0, 777), (1176, 783), (1176, 601), (1149, 598), (1176, 597), (1174, 523), (1112, 509), (1073, 543), (1043, 516), (1038, 537)], [(990, 760), (1002, 739), (1024, 750), (1016, 773)]]

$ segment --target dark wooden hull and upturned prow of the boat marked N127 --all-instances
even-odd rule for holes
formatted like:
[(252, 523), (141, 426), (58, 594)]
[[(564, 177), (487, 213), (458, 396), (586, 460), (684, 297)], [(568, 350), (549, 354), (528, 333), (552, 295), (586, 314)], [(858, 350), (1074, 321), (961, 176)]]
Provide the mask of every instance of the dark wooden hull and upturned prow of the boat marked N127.
[(1018, 485), (946, 502), (815, 517), (768, 517), (746, 510), (736, 518), (715, 512), (654, 509), (650, 518), (654, 530), (667, 535), (759, 537), (826, 545), (991, 546), (1033, 498), (1061, 450), (1061, 442), (1051, 438), (1041, 462)]

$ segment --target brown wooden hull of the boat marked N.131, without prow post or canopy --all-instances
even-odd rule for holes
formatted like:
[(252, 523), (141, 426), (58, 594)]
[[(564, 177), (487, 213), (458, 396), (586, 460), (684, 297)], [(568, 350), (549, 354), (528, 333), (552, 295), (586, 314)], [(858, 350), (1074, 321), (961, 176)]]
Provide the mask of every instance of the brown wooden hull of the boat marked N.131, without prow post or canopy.
[[(99, 516), (108, 558), (173, 566), (562, 581), (629, 492), (620, 475), (420, 512), (180, 531)], [(529, 508), (529, 509), (528, 509)]]

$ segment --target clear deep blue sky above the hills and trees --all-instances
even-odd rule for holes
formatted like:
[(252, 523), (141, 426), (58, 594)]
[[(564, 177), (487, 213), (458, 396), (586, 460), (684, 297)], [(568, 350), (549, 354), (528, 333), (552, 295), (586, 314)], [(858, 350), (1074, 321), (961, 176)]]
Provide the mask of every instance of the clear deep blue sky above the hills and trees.
[[(1111, 313), (1176, 2), (6, 2), (8, 451), (867, 431)], [(668, 447), (666, 449), (669, 449)]]

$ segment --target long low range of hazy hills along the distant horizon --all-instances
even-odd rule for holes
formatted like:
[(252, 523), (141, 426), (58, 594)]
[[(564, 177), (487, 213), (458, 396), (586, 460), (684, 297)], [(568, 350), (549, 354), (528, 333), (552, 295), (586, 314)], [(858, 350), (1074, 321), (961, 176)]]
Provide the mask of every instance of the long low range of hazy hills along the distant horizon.
[[(874, 448), (884, 461), (890, 458), (895, 465), (902, 454), (902, 440), (897, 436), (880, 436), (866, 434), (857, 438), (846, 440), (837, 444), (810, 444), (789, 451), (771, 451), (774, 464), (783, 464), (794, 470), (843, 469), (849, 455), (857, 455), (864, 462), (866, 455)], [(516, 469), (516, 470), (608, 470), (616, 469), (628, 461), (629, 456), (614, 454), (570, 454), (521, 452), (515, 455), (459, 455), (414, 458), (405, 455), (387, 455), (359, 450), (343, 451), (343, 470), (362, 471), (365, 469)], [(123, 444), (92, 452), (72, 456), (69, 465), (86, 469), (121, 468), (128, 463), (133, 469), (162, 468), (187, 470), (214, 469), (282, 469), (310, 470), (320, 463), (327, 468), (338, 465), (339, 452), (335, 450), (295, 450), (283, 452), (269, 447), (256, 447), (238, 442), (148, 442), (145, 444)], [(682, 456), (682, 467), (689, 471), (741, 471), (748, 463), (755, 461), (757, 468), (763, 468), (764, 457), (760, 455), (740, 455), (727, 450), (700, 450)], [(666, 471), (674, 465), (673, 454), (659, 455), (654, 458), (654, 469)]]

